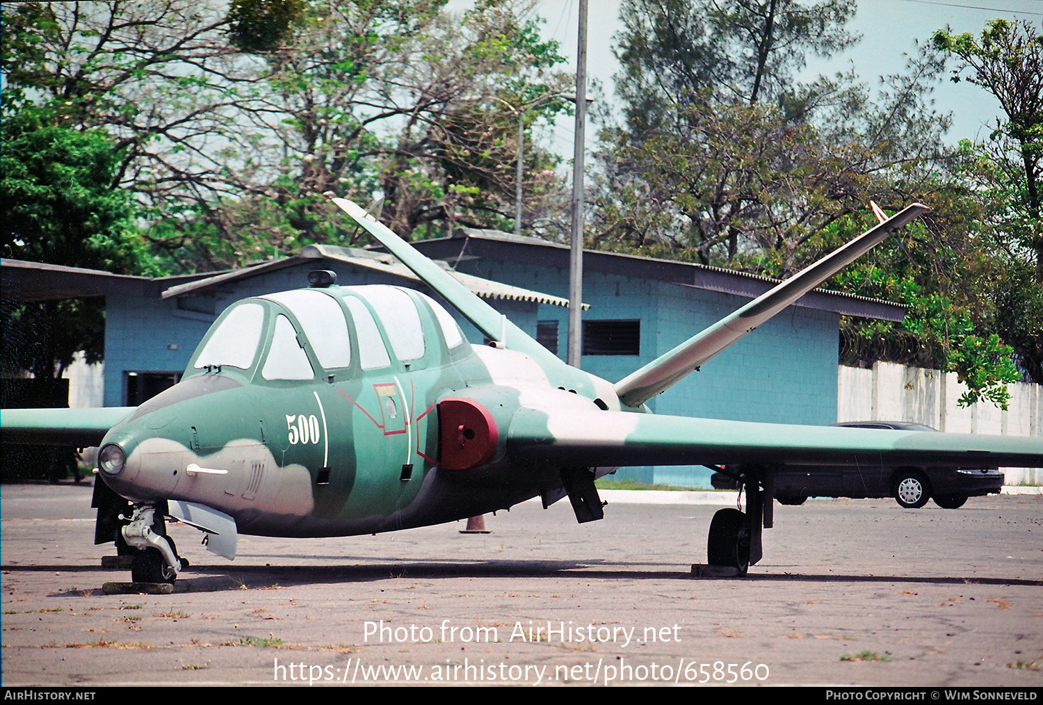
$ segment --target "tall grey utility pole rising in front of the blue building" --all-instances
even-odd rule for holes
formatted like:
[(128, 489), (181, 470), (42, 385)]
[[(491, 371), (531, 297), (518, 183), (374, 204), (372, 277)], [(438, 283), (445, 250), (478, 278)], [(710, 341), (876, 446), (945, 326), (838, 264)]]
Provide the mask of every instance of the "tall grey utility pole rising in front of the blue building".
[(580, 0), (579, 46), (576, 52), (576, 145), (573, 150), (573, 223), (568, 260), (568, 364), (580, 366), (583, 345), (583, 154), (586, 148), (586, 19), (587, 0)]

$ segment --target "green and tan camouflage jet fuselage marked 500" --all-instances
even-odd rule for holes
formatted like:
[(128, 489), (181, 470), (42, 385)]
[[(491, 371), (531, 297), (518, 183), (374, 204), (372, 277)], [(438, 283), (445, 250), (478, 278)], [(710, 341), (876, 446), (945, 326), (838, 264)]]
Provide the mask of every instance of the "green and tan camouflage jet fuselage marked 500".
[[(106, 434), (102, 446), (118, 444), (126, 462), (118, 475), (102, 471), (105, 483), (136, 503), (201, 504), (234, 517), (240, 533), (282, 536), (438, 524), (560, 488), (557, 468), (508, 460), (511, 418), (523, 407), (538, 413), (575, 406), (581, 415), (618, 410), (612, 385), (563, 363), (548, 370), (517, 351), (472, 346), (446, 327), (452, 321), (437, 303), (398, 289), (415, 306), (423, 332), (422, 354), (407, 351), (410, 359), (403, 360), (388, 331), (401, 321), (372, 305), (389, 289), (308, 290), (338, 305), (323, 327), (343, 325), (332, 320), (338, 314), (347, 322), (351, 354), (333, 369), (322, 366), (296, 315), (302, 302), (288, 306), (275, 296), (234, 306), (200, 343), (184, 380)], [(360, 302), (373, 314), (379, 340)], [(244, 303), (263, 313), (249, 364), (220, 364), (220, 351), (209, 362), (210, 342)], [(265, 373), (267, 361), (281, 355), (277, 318), (292, 324), (308, 358), (306, 371), (291, 376), (310, 379)], [(367, 360), (366, 345), (382, 348), (375, 360), (372, 350)]]

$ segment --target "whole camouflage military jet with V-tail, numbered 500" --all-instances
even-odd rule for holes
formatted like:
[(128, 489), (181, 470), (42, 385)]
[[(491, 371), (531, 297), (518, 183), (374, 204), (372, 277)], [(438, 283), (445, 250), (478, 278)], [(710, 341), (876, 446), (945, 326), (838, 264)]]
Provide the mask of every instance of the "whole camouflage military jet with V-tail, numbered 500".
[(348, 536), (453, 521), (540, 496), (600, 519), (617, 466), (737, 467), (708, 560), (745, 573), (784, 464), (1043, 465), (1038, 439), (800, 427), (648, 413), (669, 389), (918, 217), (913, 204), (616, 383), (569, 367), (391, 230), (335, 202), (491, 342), (470, 345), (419, 292), (311, 287), (246, 298), (214, 322), (181, 382), (137, 409), (10, 410), (4, 440), (97, 444), (96, 542), (136, 582), (181, 569), (166, 518), (232, 558), (239, 533)]

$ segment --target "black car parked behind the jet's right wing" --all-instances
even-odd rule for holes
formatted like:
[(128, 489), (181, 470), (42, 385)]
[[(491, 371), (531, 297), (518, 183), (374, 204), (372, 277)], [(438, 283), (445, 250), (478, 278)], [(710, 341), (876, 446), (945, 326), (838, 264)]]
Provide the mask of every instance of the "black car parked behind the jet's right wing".
[[(853, 429), (937, 431), (907, 421), (845, 421), (834, 423)], [(725, 489), (734, 481), (722, 473), (710, 479), (713, 487)], [(800, 505), (809, 496), (886, 497), (900, 507), (917, 509), (933, 499), (944, 509), (959, 509), (967, 497), (996, 494), (1003, 487), (998, 469), (952, 469), (937, 467), (831, 467), (787, 465), (775, 473), (775, 499), (783, 505)]]

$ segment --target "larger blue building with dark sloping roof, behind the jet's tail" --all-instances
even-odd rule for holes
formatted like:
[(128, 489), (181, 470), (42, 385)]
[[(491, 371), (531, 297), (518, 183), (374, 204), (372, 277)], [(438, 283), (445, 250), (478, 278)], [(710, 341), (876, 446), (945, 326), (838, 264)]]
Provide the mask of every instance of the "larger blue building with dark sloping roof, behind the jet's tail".
[[(568, 295), (568, 248), (533, 238), (459, 229), (414, 243), (457, 271)], [(699, 264), (587, 250), (583, 258), (583, 369), (617, 382), (776, 282)], [(841, 315), (901, 320), (904, 308), (817, 290), (663, 394), (656, 413), (748, 421), (836, 421)], [(540, 306), (539, 337), (565, 358), (567, 310)], [(614, 338), (606, 340), (608, 338)], [(708, 486), (705, 468), (647, 467), (617, 477)]]

